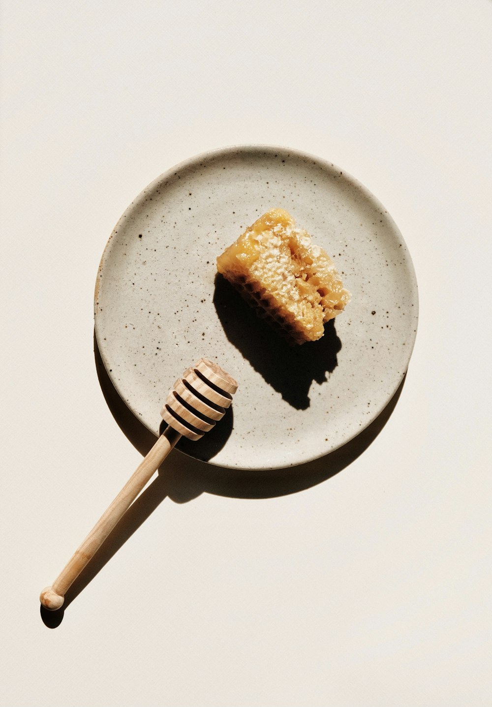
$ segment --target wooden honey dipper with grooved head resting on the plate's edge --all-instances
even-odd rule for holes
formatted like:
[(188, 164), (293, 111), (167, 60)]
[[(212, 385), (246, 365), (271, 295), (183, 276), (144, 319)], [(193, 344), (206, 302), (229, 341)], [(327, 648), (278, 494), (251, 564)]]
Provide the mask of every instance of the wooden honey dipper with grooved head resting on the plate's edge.
[(199, 440), (225, 414), (238, 390), (234, 378), (208, 358), (200, 358), (187, 368), (165, 401), (161, 415), (168, 427), (130, 477), (115, 500), (105, 510), (81, 546), (58, 575), (51, 587), (42, 590), (40, 601), (47, 609), (59, 609), (66, 592), (88, 561), (100, 548), (122, 515), (139, 495), (156, 469), (168, 456), (181, 436)]

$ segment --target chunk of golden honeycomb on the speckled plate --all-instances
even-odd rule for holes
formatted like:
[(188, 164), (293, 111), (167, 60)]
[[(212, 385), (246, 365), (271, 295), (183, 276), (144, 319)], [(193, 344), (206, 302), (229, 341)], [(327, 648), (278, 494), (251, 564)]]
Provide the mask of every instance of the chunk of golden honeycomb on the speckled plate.
[(295, 344), (320, 339), (351, 298), (329, 255), (283, 209), (260, 216), (217, 258), (217, 269)]

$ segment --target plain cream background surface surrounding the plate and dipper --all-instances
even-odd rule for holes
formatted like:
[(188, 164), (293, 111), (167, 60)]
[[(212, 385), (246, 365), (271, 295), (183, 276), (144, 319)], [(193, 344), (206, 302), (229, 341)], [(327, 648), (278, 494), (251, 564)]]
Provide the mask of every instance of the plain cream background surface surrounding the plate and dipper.
[[(492, 3), (1, 13), (1, 706), (490, 704)], [(107, 237), (174, 163), (252, 142), (341, 165), (402, 230), (399, 400), (288, 477), (174, 455), (49, 629), (40, 590), (141, 458), (93, 356)]]

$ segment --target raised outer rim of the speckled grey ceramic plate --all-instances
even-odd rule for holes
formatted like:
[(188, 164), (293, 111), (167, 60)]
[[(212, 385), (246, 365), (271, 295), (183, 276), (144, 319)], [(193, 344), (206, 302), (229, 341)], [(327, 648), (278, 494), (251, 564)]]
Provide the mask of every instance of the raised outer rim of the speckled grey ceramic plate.
[(110, 252), (112, 250), (112, 244), (115, 242), (115, 235), (117, 235), (117, 231), (119, 230), (119, 226), (122, 222), (125, 221), (127, 216), (131, 213), (131, 211), (134, 210), (137, 204), (141, 202), (142, 199), (144, 199), (145, 194), (152, 189), (154, 189), (157, 185), (159, 185), (161, 182), (164, 182), (166, 179), (172, 177), (175, 175), (180, 170), (185, 170), (189, 168), (190, 166), (194, 165), (195, 163), (199, 163), (200, 160), (208, 160), (213, 157), (219, 157), (219, 156), (228, 156), (230, 153), (238, 153), (240, 151), (244, 152), (262, 152), (266, 151), (269, 153), (273, 152), (286, 152), (288, 153), (289, 156), (295, 156), (297, 158), (302, 158), (302, 159), (307, 159), (307, 160), (312, 160), (313, 163), (317, 163), (324, 170), (329, 170), (329, 171), (337, 171), (344, 175), (344, 178), (347, 182), (349, 182), (353, 187), (358, 189), (360, 192), (362, 192), (363, 196), (368, 199), (371, 203), (373, 203), (377, 208), (382, 210), (385, 213), (385, 218), (387, 219), (387, 222), (389, 223), (389, 226), (391, 226), (392, 231), (394, 235), (396, 235), (402, 245), (406, 248), (406, 253), (407, 253), (407, 258), (406, 258), (406, 269), (409, 274), (409, 281), (411, 282), (411, 293), (412, 293), (412, 299), (411, 303), (414, 305), (414, 320), (415, 320), (415, 331), (411, 340), (410, 346), (408, 346), (408, 349), (406, 349), (406, 357), (404, 359), (404, 370), (403, 373), (399, 375), (399, 378), (397, 379), (396, 385), (394, 385), (392, 391), (387, 395), (385, 402), (380, 406), (377, 407), (373, 411), (373, 414), (368, 416), (364, 420), (363, 426), (360, 428), (356, 429), (353, 434), (347, 435), (341, 440), (340, 443), (332, 447), (330, 450), (327, 452), (320, 452), (320, 453), (315, 453), (313, 455), (310, 455), (307, 458), (303, 458), (302, 460), (297, 460), (295, 462), (290, 462), (287, 464), (281, 464), (281, 465), (275, 465), (275, 466), (241, 466), (238, 467), (237, 465), (232, 465), (232, 464), (226, 464), (223, 462), (217, 462), (214, 460), (214, 457), (211, 458), (211, 460), (199, 460), (198, 457), (195, 457), (194, 455), (190, 455), (187, 452), (183, 450), (179, 450), (182, 454), (185, 454), (188, 457), (191, 457), (194, 460), (198, 460), (203, 462), (204, 464), (211, 464), (212, 466), (216, 467), (221, 467), (225, 469), (233, 469), (233, 470), (238, 470), (238, 469), (244, 469), (244, 470), (250, 470), (250, 471), (266, 471), (266, 470), (271, 470), (271, 469), (288, 469), (291, 467), (296, 467), (296, 466), (302, 466), (303, 464), (307, 464), (309, 462), (313, 462), (315, 460), (321, 459), (322, 457), (327, 457), (329, 456), (332, 452), (340, 449), (341, 447), (344, 447), (347, 443), (351, 442), (351, 440), (355, 439), (361, 432), (363, 432), (365, 429), (372, 424), (375, 419), (377, 419), (378, 416), (382, 413), (382, 411), (387, 407), (389, 402), (392, 400), (394, 395), (396, 394), (399, 386), (402, 383), (402, 380), (404, 379), (407, 370), (409, 368), (409, 363), (411, 359), (411, 355), (414, 351), (414, 346), (415, 346), (415, 341), (416, 341), (416, 336), (417, 336), (417, 331), (418, 331), (418, 320), (419, 320), (419, 298), (418, 298), (418, 282), (416, 278), (416, 271), (414, 267), (414, 262), (413, 259), (411, 258), (411, 254), (409, 251), (408, 246), (406, 245), (406, 242), (404, 240), (404, 237), (402, 235), (401, 230), (397, 226), (397, 223), (394, 221), (394, 218), (392, 215), (389, 213), (389, 211), (385, 208), (384, 204), (375, 197), (375, 194), (368, 189), (368, 187), (365, 187), (362, 182), (360, 182), (356, 177), (354, 177), (351, 173), (348, 173), (346, 170), (343, 168), (340, 168), (339, 165), (336, 165), (336, 163), (333, 163), (330, 160), (327, 160), (326, 158), (322, 158), (320, 156), (314, 155), (312, 153), (305, 152), (303, 150), (300, 150), (299, 148), (291, 148), (287, 146), (281, 146), (281, 145), (272, 145), (272, 144), (262, 144), (262, 143), (252, 143), (252, 144), (233, 144), (233, 145), (228, 145), (224, 147), (219, 147), (219, 148), (213, 148), (210, 150), (206, 150), (201, 153), (197, 153), (189, 158), (186, 158), (185, 160), (181, 160), (178, 163), (175, 163), (175, 165), (172, 165), (170, 168), (165, 170), (163, 173), (155, 177), (151, 182), (144, 187), (144, 189), (141, 189), (139, 194), (134, 197), (127, 206), (126, 209), (124, 209), (122, 215), (118, 218), (117, 223), (115, 224), (115, 227), (112, 229), (112, 232), (107, 239), (107, 242), (105, 244), (104, 250), (102, 251), (102, 255), (100, 258), (99, 266), (98, 266), (98, 271), (96, 274), (96, 279), (95, 279), (95, 286), (94, 286), (94, 298), (93, 298), (93, 315), (94, 315), (94, 334), (95, 338), (98, 344), (98, 350), (100, 354), (100, 358), (102, 361), (103, 366), (105, 367), (106, 373), (108, 378), (110, 379), (111, 384), (113, 387), (115, 387), (115, 390), (119, 397), (122, 399), (124, 404), (127, 406), (129, 411), (131, 411), (131, 414), (133, 414), (136, 419), (139, 420), (141, 424), (143, 424), (146, 429), (151, 431), (153, 435), (155, 435), (155, 432), (153, 431), (152, 428), (150, 428), (144, 419), (141, 419), (138, 415), (138, 412), (132, 409), (127, 402), (127, 399), (125, 399), (123, 391), (120, 389), (117, 380), (111, 375), (110, 373), (110, 368), (107, 362), (107, 358), (105, 355), (105, 351), (103, 348), (101, 348), (101, 341), (100, 341), (100, 336), (98, 335), (98, 295), (99, 295), (99, 286), (100, 286), (100, 279), (102, 276), (102, 270), (104, 269), (105, 263), (110, 255)]

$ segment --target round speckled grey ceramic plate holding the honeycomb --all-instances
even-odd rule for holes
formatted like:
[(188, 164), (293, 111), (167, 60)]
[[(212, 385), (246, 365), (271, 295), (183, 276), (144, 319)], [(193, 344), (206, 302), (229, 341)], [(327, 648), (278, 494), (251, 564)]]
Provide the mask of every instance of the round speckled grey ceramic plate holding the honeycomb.
[[(216, 274), (216, 257), (273, 207), (334, 257), (352, 300), (319, 341), (290, 347)], [(201, 356), (239, 382), (229, 414), (182, 450), (272, 469), (338, 448), (382, 411), (409, 363), (416, 278), (401, 233), (343, 170), (288, 148), (235, 146), (151, 183), (119, 219), (95, 287), (108, 374), (156, 435), (175, 380)]]

